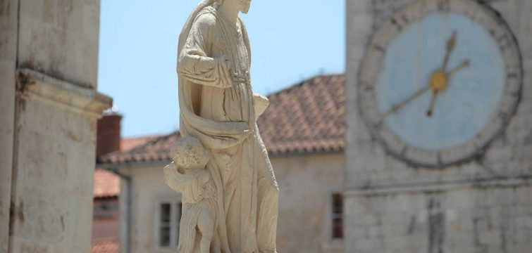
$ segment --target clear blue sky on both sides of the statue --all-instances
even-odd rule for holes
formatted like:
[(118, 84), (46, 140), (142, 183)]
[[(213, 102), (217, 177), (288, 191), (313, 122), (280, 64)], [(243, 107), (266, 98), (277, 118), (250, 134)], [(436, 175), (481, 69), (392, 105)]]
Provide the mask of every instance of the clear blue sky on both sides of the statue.
[[(123, 115), (122, 134), (178, 129), (178, 34), (199, 0), (101, 0), (98, 89)], [(253, 0), (241, 15), (252, 86), (268, 95), (345, 69), (345, 0)]]

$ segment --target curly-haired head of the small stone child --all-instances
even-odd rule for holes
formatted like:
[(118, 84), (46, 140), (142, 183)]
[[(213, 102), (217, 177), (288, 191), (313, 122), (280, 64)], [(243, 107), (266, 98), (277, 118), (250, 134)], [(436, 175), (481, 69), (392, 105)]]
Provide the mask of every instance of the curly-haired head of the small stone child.
[(209, 154), (202, 143), (192, 136), (178, 138), (171, 150), (172, 160), (178, 168), (205, 169)]

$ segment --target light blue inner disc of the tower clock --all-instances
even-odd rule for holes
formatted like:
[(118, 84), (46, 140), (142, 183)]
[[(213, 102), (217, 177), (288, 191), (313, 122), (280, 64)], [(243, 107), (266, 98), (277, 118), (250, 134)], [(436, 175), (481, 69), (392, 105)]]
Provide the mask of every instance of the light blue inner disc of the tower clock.
[[(446, 51), (453, 33), (454, 50)], [(446, 83), (435, 94), (438, 72), (447, 80), (440, 80)], [(409, 25), (386, 48), (378, 105), (386, 112), (428, 87), (385, 122), (414, 147), (454, 148), (474, 138), (496, 113), (505, 74), (499, 46), (484, 27), (464, 15), (434, 13)]]

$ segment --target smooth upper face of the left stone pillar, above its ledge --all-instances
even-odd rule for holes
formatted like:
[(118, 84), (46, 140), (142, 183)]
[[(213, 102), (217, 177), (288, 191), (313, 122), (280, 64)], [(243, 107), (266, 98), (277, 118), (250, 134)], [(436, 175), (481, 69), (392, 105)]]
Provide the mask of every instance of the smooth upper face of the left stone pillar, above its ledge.
[(99, 9), (100, 1), (20, 1), (19, 66), (95, 89)]

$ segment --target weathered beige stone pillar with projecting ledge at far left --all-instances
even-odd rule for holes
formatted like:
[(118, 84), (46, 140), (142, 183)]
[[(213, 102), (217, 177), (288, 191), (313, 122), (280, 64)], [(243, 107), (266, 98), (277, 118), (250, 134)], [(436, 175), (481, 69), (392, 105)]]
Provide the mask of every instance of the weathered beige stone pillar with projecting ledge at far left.
[(90, 250), (98, 34), (98, 0), (0, 1), (0, 253)]

